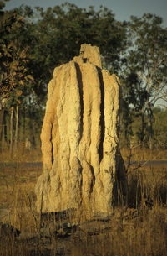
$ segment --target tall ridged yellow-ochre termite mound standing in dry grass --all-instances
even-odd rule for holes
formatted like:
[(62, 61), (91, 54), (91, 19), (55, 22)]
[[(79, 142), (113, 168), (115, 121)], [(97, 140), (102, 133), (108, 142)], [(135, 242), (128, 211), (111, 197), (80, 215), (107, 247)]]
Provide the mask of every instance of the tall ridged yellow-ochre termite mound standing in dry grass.
[(117, 149), (119, 95), (119, 79), (101, 69), (96, 46), (82, 44), (79, 56), (55, 68), (41, 133), (39, 211), (112, 211), (126, 183)]

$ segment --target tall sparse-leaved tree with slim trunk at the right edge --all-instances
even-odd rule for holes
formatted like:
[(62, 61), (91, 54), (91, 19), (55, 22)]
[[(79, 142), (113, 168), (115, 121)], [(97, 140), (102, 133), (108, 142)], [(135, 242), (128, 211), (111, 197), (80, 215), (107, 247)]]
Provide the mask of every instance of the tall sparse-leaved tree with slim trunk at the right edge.
[(153, 14), (144, 14), (142, 18), (131, 17), (129, 23), (131, 47), (125, 75), (129, 81), (129, 90), (133, 91), (136, 100), (130, 103), (142, 118), (141, 141), (144, 140), (144, 117), (147, 115), (149, 148), (152, 148), (154, 104), (167, 81), (166, 31), (162, 26), (162, 18)]

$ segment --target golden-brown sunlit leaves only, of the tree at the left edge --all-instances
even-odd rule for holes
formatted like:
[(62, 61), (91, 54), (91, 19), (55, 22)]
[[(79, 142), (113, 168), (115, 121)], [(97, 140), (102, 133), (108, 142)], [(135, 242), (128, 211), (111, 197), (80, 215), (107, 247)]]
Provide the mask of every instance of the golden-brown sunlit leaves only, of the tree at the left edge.
[(0, 96), (4, 98), (16, 87), (20, 91), (25, 82), (33, 81), (28, 73), (28, 45), (23, 47), (21, 38), (23, 30), (22, 17), (13, 12), (3, 14), (0, 21)]

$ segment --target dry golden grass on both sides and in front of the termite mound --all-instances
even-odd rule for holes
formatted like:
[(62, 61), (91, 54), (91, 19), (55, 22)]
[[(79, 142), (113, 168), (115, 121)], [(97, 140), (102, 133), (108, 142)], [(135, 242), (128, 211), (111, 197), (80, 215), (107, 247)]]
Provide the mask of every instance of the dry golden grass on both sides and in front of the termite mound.
[[(24, 232), (38, 232), (40, 217), (34, 208), (34, 185), (41, 172), (41, 167), (0, 167), (0, 209), (7, 211), (4, 221)], [(99, 232), (91, 231), (88, 222), (81, 226), (82, 232), (71, 236), (70, 248), (67, 238), (61, 238), (64, 244), (62, 250), (58, 250), (60, 238), (42, 243), (39, 236), (21, 243), (9, 236), (0, 239), (0, 256), (166, 256), (167, 168), (143, 167), (134, 170), (134, 166), (130, 166), (128, 184), (127, 206), (116, 207), (104, 226), (94, 222)], [(73, 222), (73, 217), (70, 222)], [(33, 250), (30, 250), (31, 247)]]

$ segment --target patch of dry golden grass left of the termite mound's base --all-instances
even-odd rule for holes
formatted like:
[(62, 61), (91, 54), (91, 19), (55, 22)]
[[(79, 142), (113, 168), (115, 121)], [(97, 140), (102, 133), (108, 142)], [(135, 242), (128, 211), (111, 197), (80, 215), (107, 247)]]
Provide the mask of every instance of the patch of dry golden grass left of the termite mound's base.
[(8, 212), (3, 222), (10, 222), (19, 230), (34, 231), (34, 185), (41, 173), (42, 167), (19, 163), (0, 167), (0, 209)]

